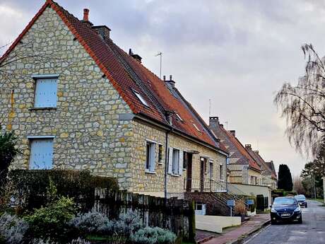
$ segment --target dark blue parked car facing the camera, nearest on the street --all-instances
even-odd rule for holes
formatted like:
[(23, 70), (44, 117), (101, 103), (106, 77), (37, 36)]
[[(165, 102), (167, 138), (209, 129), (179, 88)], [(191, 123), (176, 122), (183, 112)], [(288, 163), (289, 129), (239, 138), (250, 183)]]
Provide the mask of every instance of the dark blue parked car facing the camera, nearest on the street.
[(271, 223), (297, 221), (302, 223), (302, 213), (295, 197), (276, 197), (271, 206)]

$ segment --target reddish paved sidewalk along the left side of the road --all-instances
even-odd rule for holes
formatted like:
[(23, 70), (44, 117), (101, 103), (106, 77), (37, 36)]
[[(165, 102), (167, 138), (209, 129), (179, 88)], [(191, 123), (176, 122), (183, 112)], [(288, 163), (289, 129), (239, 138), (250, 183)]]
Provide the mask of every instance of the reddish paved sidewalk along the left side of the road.
[(270, 214), (256, 214), (256, 216), (249, 219), (237, 228), (232, 228), (225, 233), (215, 236), (211, 240), (205, 242), (205, 244), (224, 244), (235, 243), (236, 240), (244, 238), (251, 233), (259, 230), (262, 226), (270, 221)]

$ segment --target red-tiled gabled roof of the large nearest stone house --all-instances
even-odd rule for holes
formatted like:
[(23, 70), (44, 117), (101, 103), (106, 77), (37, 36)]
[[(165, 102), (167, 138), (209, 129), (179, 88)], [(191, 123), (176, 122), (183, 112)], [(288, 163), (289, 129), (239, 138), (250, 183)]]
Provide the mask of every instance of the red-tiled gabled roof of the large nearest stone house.
[[(168, 127), (170, 127), (168, 116), (171, 116), (173, 129), (213, 146), (215, 149), (220, 149), (220, 143), (204, 128), (198, 113), (191, 112), (184, 105), (182, 99), (175, 98), (164, 81), (120, 49), (110, 38), (103, 39), (91, 25), (78, 20), (52, 0), (46, 1), (23, 30), (23, 33), (18, 36), (13, 45), (1, 57), (0, 62), (6, 59), (47, 6), (57, 12), (58, 16), (76, 37), (76, 40), (81, 43), (86, 52), (90, 54), (90, 57), (98, 64), (102, 73), (110, 80), (134, 114), (147, 117)], [(146, 100), (148, 106), (141, 103), (134, 91)], [(179, 121), (174, 112), (177, 112), (183, 118), (183, 121)]]

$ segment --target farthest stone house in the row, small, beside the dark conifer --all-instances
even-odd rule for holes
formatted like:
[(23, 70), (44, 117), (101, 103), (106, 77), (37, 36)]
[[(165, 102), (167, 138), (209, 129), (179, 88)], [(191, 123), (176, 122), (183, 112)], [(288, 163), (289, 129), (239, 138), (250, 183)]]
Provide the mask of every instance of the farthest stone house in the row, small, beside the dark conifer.
[(269, 186), (271, 189), (275, 190), (278, 185), (278, 179), (276, 176), (276, 170), (274, 168), (273, 161), (264, 161), (259, 151), (253, 151), (251, 144), (245, 144), (245, 149), (261, 168), (261, 185)]

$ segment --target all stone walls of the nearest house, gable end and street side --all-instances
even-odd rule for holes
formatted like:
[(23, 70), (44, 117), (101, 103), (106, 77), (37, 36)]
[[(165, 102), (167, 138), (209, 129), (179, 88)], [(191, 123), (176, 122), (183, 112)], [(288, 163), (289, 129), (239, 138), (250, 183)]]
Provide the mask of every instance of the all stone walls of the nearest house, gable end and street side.
[[(163, 196), (165, 175), (165, 131), (133, 119), (132, 111), (93, 58), (85, 52), (52, 8), (46, 8), (9, 54), (37, 54), (20, 59), (1, 72), (0, 110), (4, 111), (3, 130), (13, 129), (23, 152), (13, 168), (28, 168), (30, 136), (52, 136), (53, 168), (86, 169), (96, 175), (117, 178), (122, 189)], [(57, 107), (34, 108), (35, 75), (59, 76)], [(146, 140), (157, 142), (155, 173), (145, 172)], [(170, 133), (169, 147), (199, 151), (193, 157), (193, 177), (199, 178), (200, 157), (213, 159), (213, 178), (219, 180), (226, 157), (183, 136)], [(162, 161), (158, 162), (158, 144)], [(184, 195), (184, 179), (168, 175), (170, 194)]]

